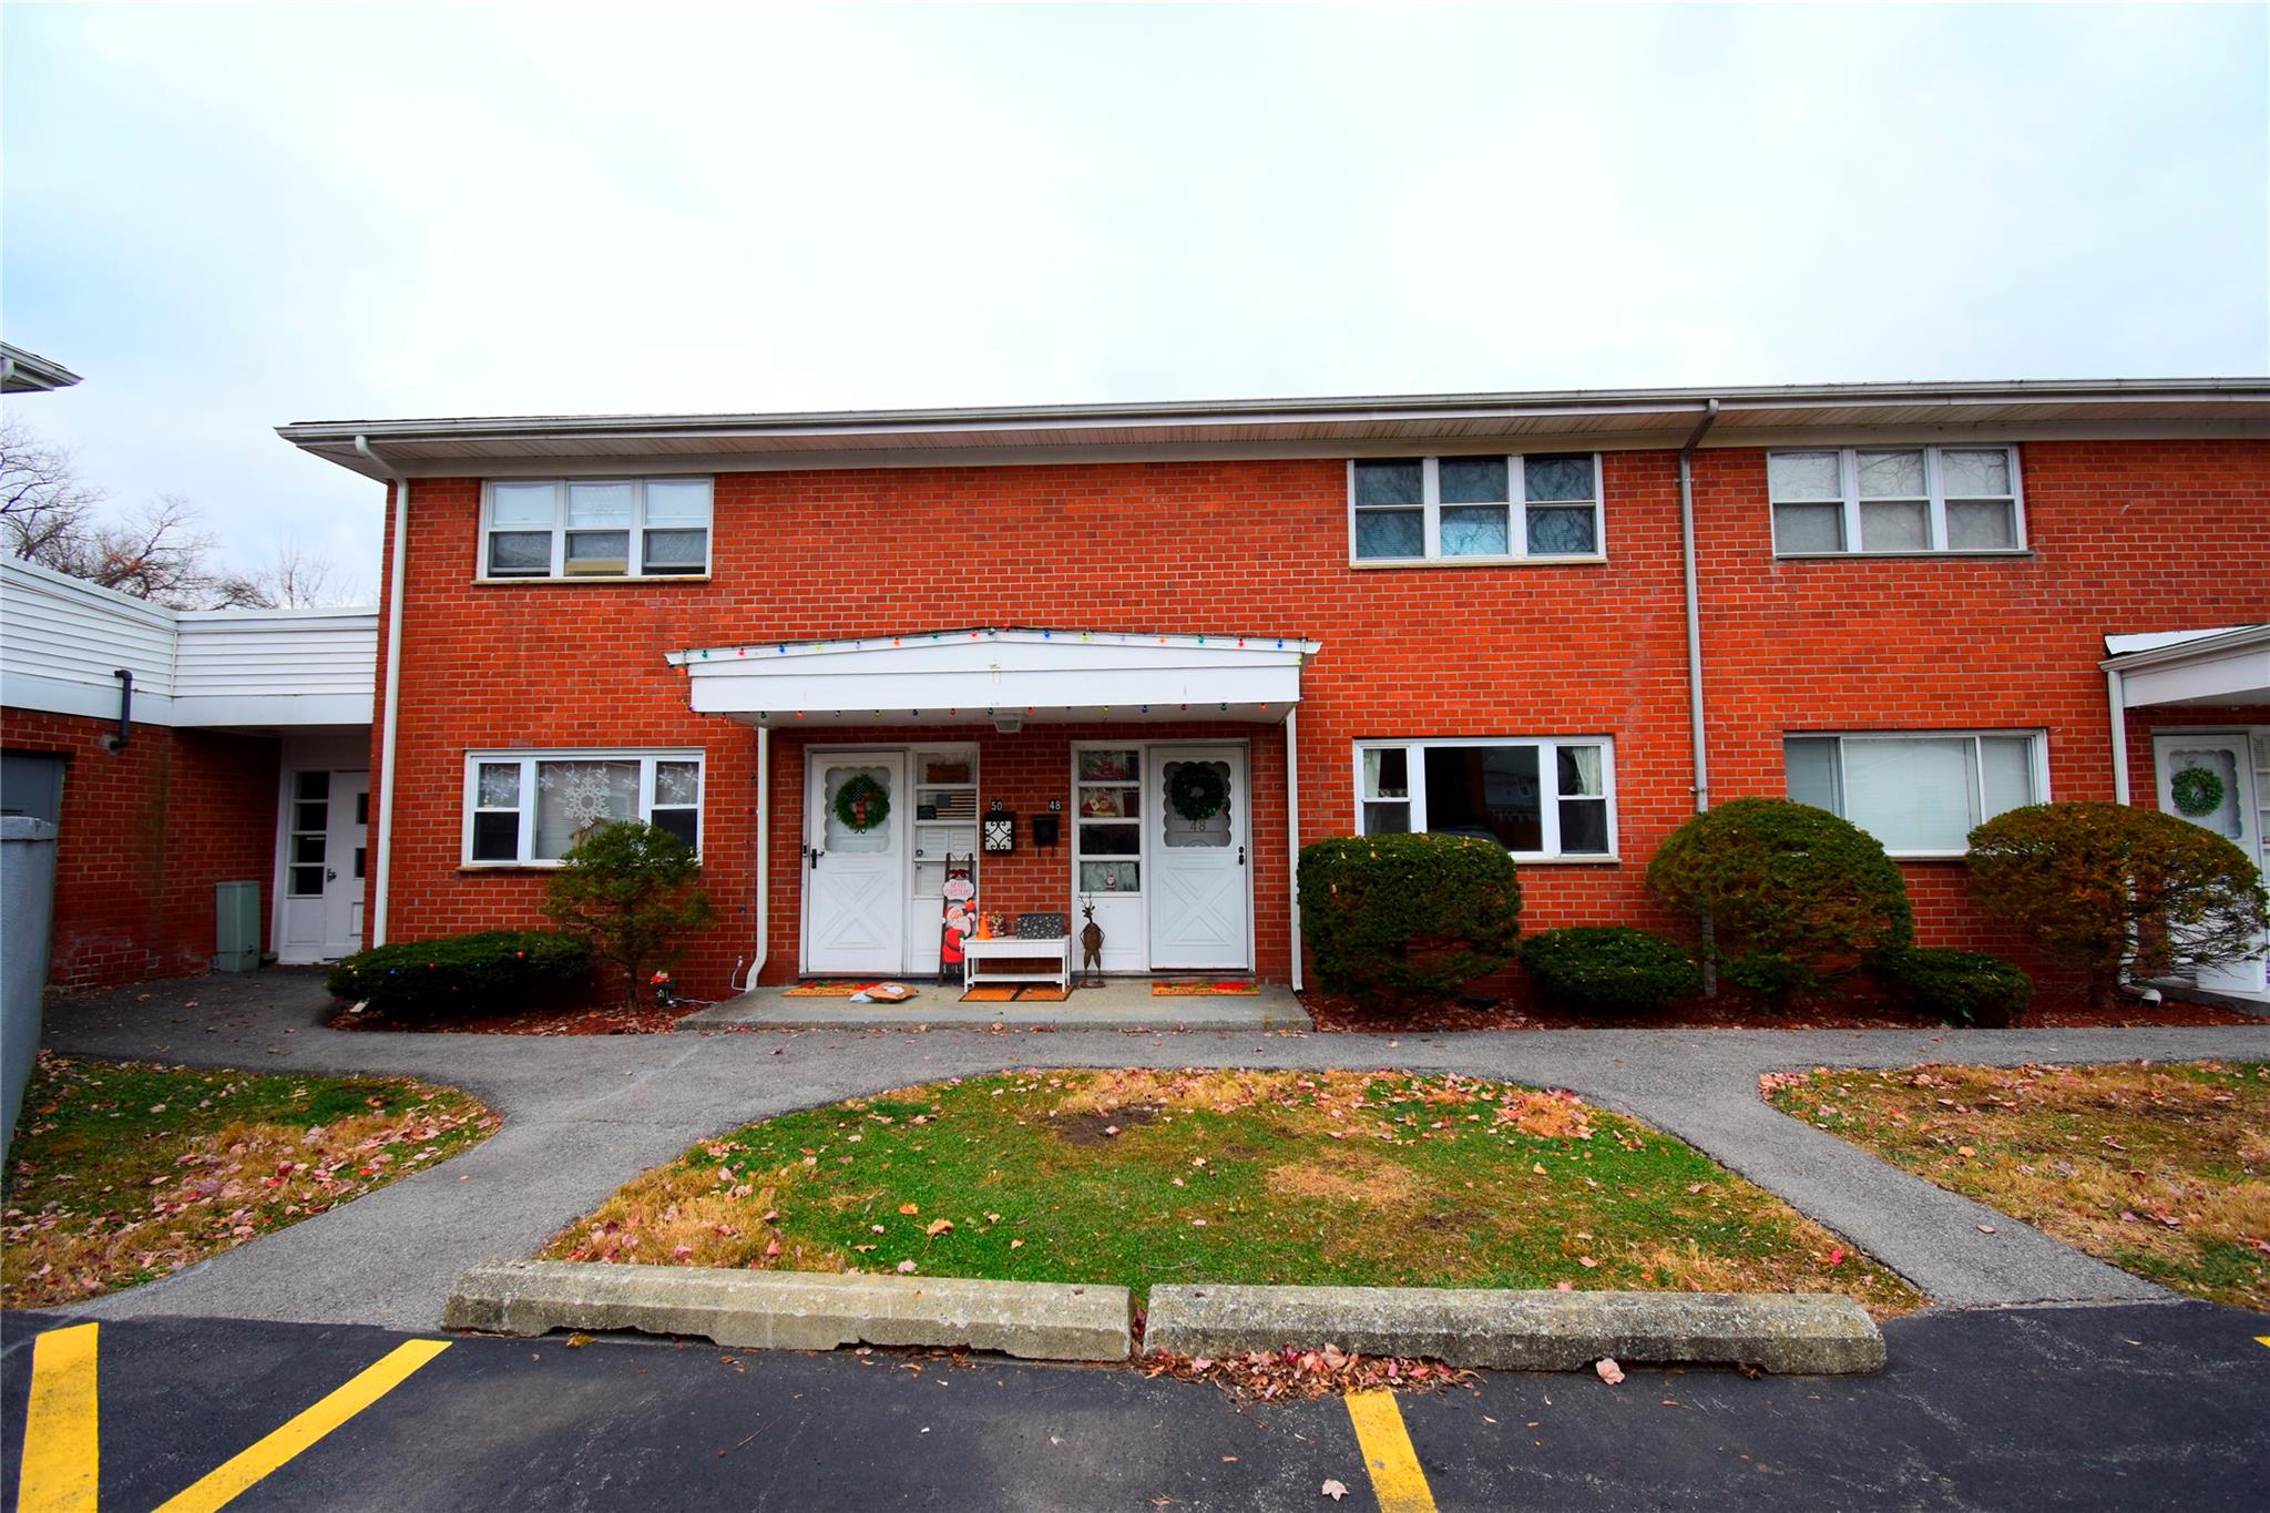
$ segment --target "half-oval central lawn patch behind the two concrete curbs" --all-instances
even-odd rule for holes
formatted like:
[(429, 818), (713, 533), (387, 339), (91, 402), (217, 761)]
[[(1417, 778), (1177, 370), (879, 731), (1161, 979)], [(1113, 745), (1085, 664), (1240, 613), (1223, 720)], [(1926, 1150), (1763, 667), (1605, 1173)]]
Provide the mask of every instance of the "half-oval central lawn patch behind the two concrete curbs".
[(1839, 1291), (1895, 1277), (1566, 1093), (1357, 1073), (1010, 1073), (695, 1146), (547, 1257), (1033, 1282)]

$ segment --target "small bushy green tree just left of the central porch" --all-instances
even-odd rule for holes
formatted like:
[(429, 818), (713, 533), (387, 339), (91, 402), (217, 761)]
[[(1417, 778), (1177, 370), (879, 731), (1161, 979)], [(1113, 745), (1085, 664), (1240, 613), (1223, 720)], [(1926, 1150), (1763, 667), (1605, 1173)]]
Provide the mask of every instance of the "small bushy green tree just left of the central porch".
[(647, 969), (679, 955), (679, 937), (717, 910), (701, 891), (701, 862), (683, 839), (638, 819), (586, 830), (545, 889), (545, 914), (622, 971), (622, 1000), (638, 1007)]

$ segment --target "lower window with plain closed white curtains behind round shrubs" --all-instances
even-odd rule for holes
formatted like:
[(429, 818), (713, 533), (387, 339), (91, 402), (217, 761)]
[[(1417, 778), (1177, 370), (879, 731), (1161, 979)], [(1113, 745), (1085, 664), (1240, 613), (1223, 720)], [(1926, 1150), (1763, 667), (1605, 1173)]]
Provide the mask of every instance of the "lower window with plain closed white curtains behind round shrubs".
[(1893, 855), (1961, 855), (1970, 830), (2045, 801), (2043, 737), (2020, 733), (1789, 735), (1789, 796), (1843, 814)]

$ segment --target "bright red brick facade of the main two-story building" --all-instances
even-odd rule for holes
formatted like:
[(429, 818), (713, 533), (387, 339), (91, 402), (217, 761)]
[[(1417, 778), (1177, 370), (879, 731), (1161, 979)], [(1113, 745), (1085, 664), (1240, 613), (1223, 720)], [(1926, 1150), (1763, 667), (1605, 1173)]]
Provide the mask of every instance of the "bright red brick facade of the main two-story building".
[[(1353, 828), (1362, 737), (1614, 737), (1621, 855), (1525, 864), (1528, 925), (1668, 923), (1643, 871), (1693, 808), (1678, 458), (1607, 451), (1603, 481), (1605, 563), (1355, 569), (1342, 460), (720, 472), (708, 581), (508, 585), (474, 581), (479, 481), (418, 481), (388, 935), (536, 919), (540, 873), (461, 867), (465, 751), (699, 746), (720, 925), (686, 984), (722, 994), (751, 950), (760, 801), (767, 978), (794, 973), (804, 746), (908, 730), (783, 730), (760, 796), (754, 730), (688, 712), (665, 653), (951, 626), (1321, 642), (1303, 671), (1303, 839)], [(1784, 733), (1900, 728), (2043, 728), (2052, 796), (2111, 796), (2102, 637), (2270, 617), (2270, 442), (2029, 442), (2023, 483), (2025, 556), (1786, 560), (1764, 451), (1696, 456), (1714, 798), (1782, 794)], [(1251, 739), (1258, 969), (1285, 978), (1285, 730), (1194, 733)], [(1101, 730), (922, 730), (940, 735), (981, 744), (985, 801), (1033, 814), (1051, 796), (1069, 812), (1065, 742)], [(2136, 774), (2150, 801), (2147, 742)], [(1907, 871), (1927, 941), (1991, 944), (1959, 864)], [(1060, 910), (1067, 873), (1062, 851), (1019, 853), (987, 896)]]

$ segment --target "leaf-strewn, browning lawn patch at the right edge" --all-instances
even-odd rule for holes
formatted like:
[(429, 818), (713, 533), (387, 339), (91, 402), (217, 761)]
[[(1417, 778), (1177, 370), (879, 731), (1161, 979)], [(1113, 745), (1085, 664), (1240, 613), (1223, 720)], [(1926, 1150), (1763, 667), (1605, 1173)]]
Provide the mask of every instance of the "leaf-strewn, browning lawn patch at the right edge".
[(2100, 1261), (2270, 1309), (2270, 1062), (1816, 1071), (1766, 1096)]

